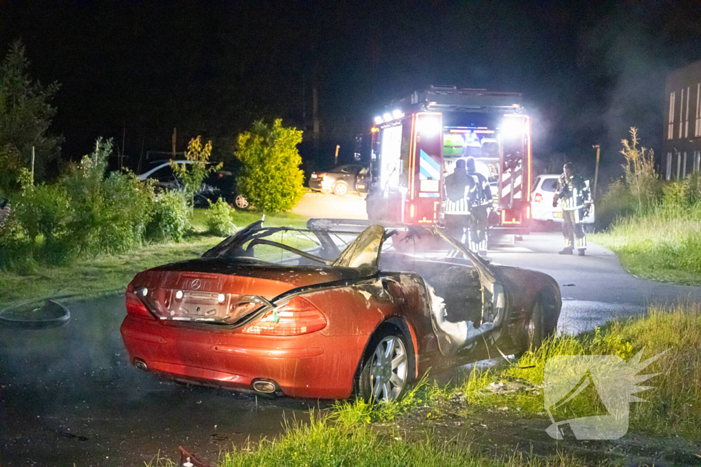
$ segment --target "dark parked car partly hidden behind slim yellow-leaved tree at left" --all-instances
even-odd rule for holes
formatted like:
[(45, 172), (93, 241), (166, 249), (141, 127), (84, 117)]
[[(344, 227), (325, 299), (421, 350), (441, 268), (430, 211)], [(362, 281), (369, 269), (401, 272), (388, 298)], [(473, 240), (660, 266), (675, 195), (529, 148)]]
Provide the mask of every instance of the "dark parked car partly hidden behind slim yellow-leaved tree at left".
[[(188, 160), (177, 160), (178, 164), (190, 164)], [(210, 162), (215, 164), (215, 162)], [(238, 174), (238, 166), (224, 165), (222, 169), (207, 175), (207, 178), (202, 183), (202, 188), (195, 195), (195, 204), (198, 207), (207, 207), (208, 200), (216, 202), (219, 197), (230, 204), (235, 205), (238, 209), (246, 209), (248, 200), (246, 197), (238, 193), (236, 190), (236, 176)], [(139, 175), (139, 180), (153, 179), (156, 183), (156, 188), (161, 190), (177, 190), (182, 188), (182, 183), (177, 179), (170, 167), (169, 160), (154, 162), (151, 169)]]

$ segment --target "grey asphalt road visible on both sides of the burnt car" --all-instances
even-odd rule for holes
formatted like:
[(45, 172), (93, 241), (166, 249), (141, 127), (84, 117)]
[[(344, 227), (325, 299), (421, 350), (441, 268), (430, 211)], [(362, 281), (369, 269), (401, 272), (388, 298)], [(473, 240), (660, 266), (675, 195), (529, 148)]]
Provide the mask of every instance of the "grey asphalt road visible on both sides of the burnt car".
[[(590, 244), (587, 256), (559, 256), (559, 234), (533, 234), (489, 251), (496, 263), (557, 279), (560, 328), (575, 332), (654, 302), (699, 300), (701, 289), (630, 276), (615, 255)], [(62, 328), (0, 328), (0, 465), (137, 466), (184, 445), (209, 461), (220, 449), (282, 431), (308, 418), (316, 401), (238, 395), (161, 382), (135, 370), (119, 335), (123, 297), (70, 304)], [(327, 405), (321, 405), (327, 407)]]

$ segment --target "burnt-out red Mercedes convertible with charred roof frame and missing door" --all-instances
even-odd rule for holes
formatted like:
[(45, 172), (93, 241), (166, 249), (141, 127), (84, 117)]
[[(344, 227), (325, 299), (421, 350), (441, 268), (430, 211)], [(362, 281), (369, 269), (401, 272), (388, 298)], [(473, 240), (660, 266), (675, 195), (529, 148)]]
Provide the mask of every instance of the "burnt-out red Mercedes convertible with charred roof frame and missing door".
[(490, 264), (437, 229), (257, 222), (137, 274), (121, 333), (136, 368), (179, 382), (393, 400), (429, 368), (537, 346), (561, 306), (550, 276)]

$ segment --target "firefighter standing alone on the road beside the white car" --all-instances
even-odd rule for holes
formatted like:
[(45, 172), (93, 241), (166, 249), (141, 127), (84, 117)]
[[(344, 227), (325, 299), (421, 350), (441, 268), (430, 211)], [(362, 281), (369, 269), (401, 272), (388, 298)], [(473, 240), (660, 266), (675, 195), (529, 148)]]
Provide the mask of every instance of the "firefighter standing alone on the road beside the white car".
[(571, 255), (576, 237), (579, 256), (584, 256), (587, 237), (584, 234), (583, 221), (592, 206), (592, 193), (589, 181), (574, 172), (572, 162), (567, 162), (563, 170), (552, 198), (552, 207), (557, 207), (558, 201), (562, 207), (562, 235), (565, 247), (559, 254)]

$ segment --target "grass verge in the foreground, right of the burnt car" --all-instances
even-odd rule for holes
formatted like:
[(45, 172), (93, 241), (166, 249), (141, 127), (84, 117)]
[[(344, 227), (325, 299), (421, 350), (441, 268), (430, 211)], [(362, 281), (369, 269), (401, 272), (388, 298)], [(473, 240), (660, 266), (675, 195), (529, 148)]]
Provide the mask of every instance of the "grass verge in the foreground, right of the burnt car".
[[(527, 454), (527, 445), (519, 450), (491, 444), (493, 449), (486, 452), (484, 445), (472, 444), (469, 436), (464, 435), (467, 431), (458, 435), (455, 431), (444, 431), (447, 424), (442, 421), (450, 420), (454, 424), (456, 420), (475, 415), (479, 418), (489, 412), (496, 426), (506, 427), (508, 424), (501, 424), (500, 417), (517, 412), (515, 417), (519, 419), (531, 417), (539, 419), (540, 426), (547, 426), (549, 421), (545, 425), (542, 423), (547, 419), (543, 415), (543, 370), (549, 358), (606, 354), (629, 361), (641, 349), (644, 349), (643, 358), (669, 351), (643, 371), (660, 375), (642, 383), (653, 386), (638, 394), (649, 402), (630, 404), (630, 431), (651, 435), (653, 454), (658, 449), (661, 451), (664, 440), (677, 435), (690, 441), (686, 445), (698, 445), (701, 442), (698, 417), (701, 413), (698, 384), (701, 381), (701, 309), (698, 305), (680, 305), (673, 309), (655, 307), (644, 316), (611, 321), (577, 336), (554, 337), (540, 349), (527, 352), (517, 363), (489, 370), (465, 370), (451, 384), (427, 384), (424, 379), (396, 403), (369, 405), (362, 400), (336, 403), (325, 416), (312, 414), (308, 424), (287, 424), (285, 434), (274, 440), (249, 442), (223, 452), (217, 466), (638, 465), (626, 454), (619, 452), (618, 456), (611, 456), (613, 447), (620, 441), (601, 444), (597, 448), (598, 456), (585, 458), (579, 455), (585, 454), (581, 451), (573, 454), (571, 447), (556, 445), (544, 435), (543, 428), (538, 430), (551, 441), (548, 444), (552, 446), (550, 454), (533, 454), (533, 445), (542, 448), (545, 444), (542, 440), (533, 441), (530, 454)], [(584, 391), (580, 395), (583, 397), (573, 399), (575, 402), (568, 407), (572, 413), (567, 413), (566, 418), (592, 414), (592, 408), (597, 408), (594, 395)], [(505, 407), (508, 412), (503, 410)], [(497, 410), (493, 410), (495, 408)], [(407, 433), (406, 427), (413, 423), (402, 424), (400, 428), (400, 422), (407, 417), (423, 417), (436, 424), (433, 431)], [(479, 426), (477, 431), (484, 434)], [(589, 454), (594, 454), (594, 445), (585, 446), (591, 448), (587, 449)], [(665, 449), (669, 452), (676, 448)], [(149, 465), (174, 464), (167, 459), (156, 459)]]

